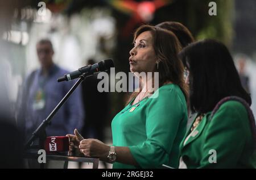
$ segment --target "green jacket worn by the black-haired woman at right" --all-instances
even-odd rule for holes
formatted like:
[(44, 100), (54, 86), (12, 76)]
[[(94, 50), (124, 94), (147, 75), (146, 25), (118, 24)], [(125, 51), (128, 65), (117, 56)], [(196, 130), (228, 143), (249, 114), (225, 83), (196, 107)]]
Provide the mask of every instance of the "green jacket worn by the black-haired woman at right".
[(180, 144), (187, 168), (255, 168), (254, 140), (243, 104), (225, 102), (212, 120), (210, 113), (192, 132), (189, 129)]

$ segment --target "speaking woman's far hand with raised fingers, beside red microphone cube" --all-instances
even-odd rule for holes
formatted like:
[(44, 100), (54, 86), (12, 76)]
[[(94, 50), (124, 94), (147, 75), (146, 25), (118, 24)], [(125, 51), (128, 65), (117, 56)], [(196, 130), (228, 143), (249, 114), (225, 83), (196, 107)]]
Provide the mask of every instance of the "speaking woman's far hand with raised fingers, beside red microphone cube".
[(77, 131), (74, 130), (74, 135), (66, 135), (69, 138), (69, 156), (83, 156), (83, 154), (79, 150), (80, 141), (84, 139)]

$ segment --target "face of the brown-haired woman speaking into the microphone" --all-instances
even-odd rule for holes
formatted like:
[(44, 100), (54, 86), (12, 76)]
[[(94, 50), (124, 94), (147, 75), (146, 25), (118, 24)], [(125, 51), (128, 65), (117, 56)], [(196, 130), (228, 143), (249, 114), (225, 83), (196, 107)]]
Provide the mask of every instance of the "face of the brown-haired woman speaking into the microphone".
[(157, 57), (153, 47), (153, 37), (150, 31), (140, 34), (134, 41), (134, 47), (130, 51), (130, 71), (153, 72)]

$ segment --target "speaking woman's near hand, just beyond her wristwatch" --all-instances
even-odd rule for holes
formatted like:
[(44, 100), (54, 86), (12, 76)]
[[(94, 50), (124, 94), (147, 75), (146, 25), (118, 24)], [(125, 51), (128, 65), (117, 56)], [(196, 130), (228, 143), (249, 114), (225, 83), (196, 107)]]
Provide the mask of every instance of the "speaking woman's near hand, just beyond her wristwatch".
[(84, 139), (80, 141), (79, 149), (86, 157), (108, 157), (110, 146), (97, 139)]

